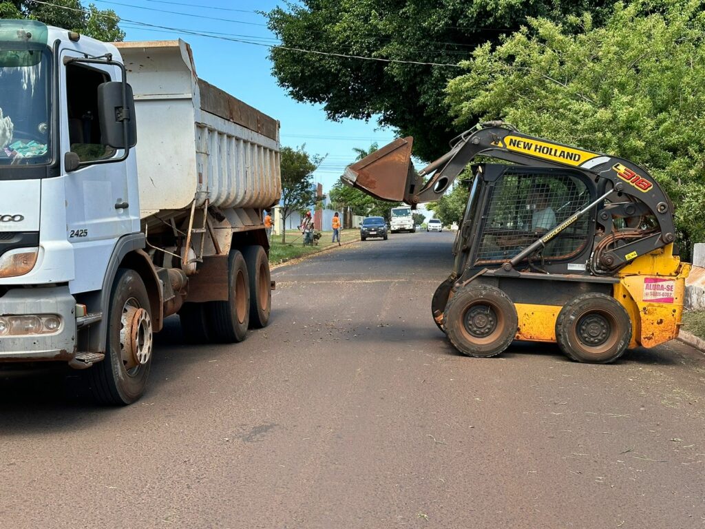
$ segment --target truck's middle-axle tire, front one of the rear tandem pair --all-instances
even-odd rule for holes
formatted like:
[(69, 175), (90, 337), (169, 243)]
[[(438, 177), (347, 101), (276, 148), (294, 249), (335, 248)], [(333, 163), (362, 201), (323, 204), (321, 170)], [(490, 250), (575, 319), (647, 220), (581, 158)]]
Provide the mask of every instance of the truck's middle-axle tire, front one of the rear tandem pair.
[(228, 300), (209, 301), (207, 309), (213, 341), (237, 343), (245, 339), (250, 324), (250, 278), (239, 250), (231, 250), (228, 258)]

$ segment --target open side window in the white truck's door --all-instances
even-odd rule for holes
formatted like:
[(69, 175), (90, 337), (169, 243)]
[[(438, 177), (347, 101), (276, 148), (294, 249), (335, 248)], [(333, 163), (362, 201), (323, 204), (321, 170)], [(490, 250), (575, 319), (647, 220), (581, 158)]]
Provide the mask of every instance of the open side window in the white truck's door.
[(110, 158), (116, 152), (102, 142), (98, 121), (98, 86), (109, 80), (106, 73), (93, 68), (66, 66), (68, 140), (81, 162)]

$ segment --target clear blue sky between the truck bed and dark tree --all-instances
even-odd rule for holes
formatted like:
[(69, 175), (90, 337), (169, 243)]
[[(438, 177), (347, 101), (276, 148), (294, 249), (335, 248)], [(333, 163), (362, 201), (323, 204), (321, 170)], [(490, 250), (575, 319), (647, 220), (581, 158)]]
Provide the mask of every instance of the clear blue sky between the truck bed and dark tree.
[[(169, 32), (128, 20), (193, 32), (219, 32), (266, 44), (275, 43), (266, 19), (256, 11), (269, 11), (283, 2), (270, 0), (92, 0), (100, 9), (113, 9), (123, 20), (125, 40), (168, 40), (178, 37), (193, 50), (198, 76), (265, 114), (281, 121), (281, 145), (306, 146), (310, 154), (327, 154), (314, 179), (328, 192), (348, 164), (355, 161), (353, 147), (367, 149), (372, 142), (385, 145), (393, 130), (379, 130), (374, 121), (326, 119), (322, 107), (295, 102), (276, 83), (268, 59), (269, 47), (229, 42), (185, 32)], [(183, 4), (183, 5), (181, 5)], [(87, 2), (85, 2), (87, 5)], [(185, 13), (185, 14), (177, 14)]]

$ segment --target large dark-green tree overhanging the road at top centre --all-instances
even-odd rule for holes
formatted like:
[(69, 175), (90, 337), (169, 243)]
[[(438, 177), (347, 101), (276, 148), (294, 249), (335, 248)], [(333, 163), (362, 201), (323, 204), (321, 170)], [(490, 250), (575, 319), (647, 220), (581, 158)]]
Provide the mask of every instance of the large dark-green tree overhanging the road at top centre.
[(300, 102), (322, 104), (332, 120), (378, 118), (381, 126), (415, 137), (415, 154), (429, 161), (457, 132), (444, 101), (453, 66), (386, 63), (326, 53), (455, 65), (479, 44), (499, 42), (527, 17), (563, 20), (584, 11), (600, 18), (614, 0), (302, 0), (267, 13), (284, 47), (273, 49), (279, 85)]

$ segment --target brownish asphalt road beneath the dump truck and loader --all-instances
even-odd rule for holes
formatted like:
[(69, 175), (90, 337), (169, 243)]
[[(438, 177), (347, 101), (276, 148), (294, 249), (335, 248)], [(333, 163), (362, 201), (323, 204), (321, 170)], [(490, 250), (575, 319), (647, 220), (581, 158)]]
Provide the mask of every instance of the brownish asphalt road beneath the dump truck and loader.
[(0, 528), (704, 528), (705, 356), (455, 353), (429, 303), (452, 233), (276, 269), (236, 346), (159, 339), (147, 394), (0, 375)]

